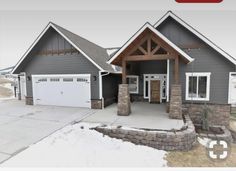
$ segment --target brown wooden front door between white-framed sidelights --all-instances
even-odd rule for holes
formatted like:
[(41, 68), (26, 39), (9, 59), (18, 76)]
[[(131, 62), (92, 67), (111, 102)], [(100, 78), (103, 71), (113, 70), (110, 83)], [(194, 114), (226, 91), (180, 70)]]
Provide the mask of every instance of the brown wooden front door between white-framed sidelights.
[(150, 102), (160, 103), (160, 80), (151, 80)]

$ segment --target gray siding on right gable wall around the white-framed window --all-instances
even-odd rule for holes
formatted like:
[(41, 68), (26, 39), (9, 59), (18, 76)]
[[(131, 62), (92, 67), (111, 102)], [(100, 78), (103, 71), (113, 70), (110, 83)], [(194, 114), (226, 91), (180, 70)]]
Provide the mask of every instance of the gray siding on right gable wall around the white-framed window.
[[(227, 104), (229, 72), (235, 71), (235, 65), (173, 19), (167, 19), (157, 29), (179, 47), (200, 45), (199, 48), (185, 50), (195, 60), (190, 64), (181, 63), (180, 66), (183, 101), (186, 102), (185, 73), (211, 72), (210, 101), (208, 103)], [(173, 83), (173, 62), (170, 64), (170, 83)]]

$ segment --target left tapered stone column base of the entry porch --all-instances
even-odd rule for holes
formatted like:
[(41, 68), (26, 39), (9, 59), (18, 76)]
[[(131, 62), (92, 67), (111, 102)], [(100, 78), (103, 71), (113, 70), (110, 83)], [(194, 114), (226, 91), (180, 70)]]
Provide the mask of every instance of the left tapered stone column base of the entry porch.
[(131, 113), (130, 95), (128, 84), (119, 85), (118, 93), (118, 111), (120, 116), (128, 116)]

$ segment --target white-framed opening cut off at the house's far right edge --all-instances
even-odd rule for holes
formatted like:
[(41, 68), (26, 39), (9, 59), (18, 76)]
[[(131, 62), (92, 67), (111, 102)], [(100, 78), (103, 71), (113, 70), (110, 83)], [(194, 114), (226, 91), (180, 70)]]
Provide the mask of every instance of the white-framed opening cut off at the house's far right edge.
[(236, 73), (230, 73), (229, 77), (229, 103), (236, 104)]

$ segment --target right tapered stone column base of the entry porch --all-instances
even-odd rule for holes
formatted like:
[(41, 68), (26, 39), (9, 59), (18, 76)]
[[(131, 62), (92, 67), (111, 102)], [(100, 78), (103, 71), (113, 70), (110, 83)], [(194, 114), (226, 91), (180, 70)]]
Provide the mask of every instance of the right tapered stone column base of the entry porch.
[(171, 119), (182, 119), (182, 91), (179, 84), (171, 86), (169, 117)]

